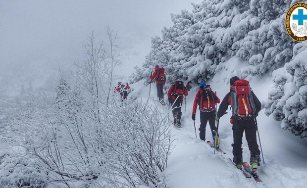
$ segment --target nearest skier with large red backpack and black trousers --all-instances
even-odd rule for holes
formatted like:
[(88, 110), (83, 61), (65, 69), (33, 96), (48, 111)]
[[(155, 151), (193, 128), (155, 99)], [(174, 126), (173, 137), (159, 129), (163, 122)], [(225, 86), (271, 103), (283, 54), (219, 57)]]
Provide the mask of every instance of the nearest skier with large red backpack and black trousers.
[(251, 172), (256, 172), (260, 165), (260, 150), (257, 144), (256, 131), (257, 125), (255, 118), (261, 110), (261, 102), (250, 88), (247, 80), (240, 80), (235, 76), (230, 79), (230, 92), (226, 94), (219, 105), (216, 114), (216, 121), (221, 118), (228, 105), (232, 108), (231, 124), (233, 130), (233, 162), (238, 169), (242, 169), (242, 138), (245, 131), (246, 141), (251, 152), (250, 164)]

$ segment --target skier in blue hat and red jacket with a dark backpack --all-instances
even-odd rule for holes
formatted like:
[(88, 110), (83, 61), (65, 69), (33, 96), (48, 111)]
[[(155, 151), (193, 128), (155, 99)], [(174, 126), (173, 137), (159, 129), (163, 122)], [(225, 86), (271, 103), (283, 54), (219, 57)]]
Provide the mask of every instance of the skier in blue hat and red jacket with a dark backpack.
[[(199, 105), (201, 125), (199, 128), (200, 139), (205, 141), (205, 127), (209, 121), (213, 143), (215, 141), (217, 129), (215, 127), (215, 104), (220, 103), (220, 99), (212, 92), (210, 85), (206, 85), (205, 82), (201, 82), (199, 85), (199, 91), (195, 96), (193, 103), (192, 119), (195, 121), (196, 109)], [(214, 143), (217, 145), (217, 143)]]

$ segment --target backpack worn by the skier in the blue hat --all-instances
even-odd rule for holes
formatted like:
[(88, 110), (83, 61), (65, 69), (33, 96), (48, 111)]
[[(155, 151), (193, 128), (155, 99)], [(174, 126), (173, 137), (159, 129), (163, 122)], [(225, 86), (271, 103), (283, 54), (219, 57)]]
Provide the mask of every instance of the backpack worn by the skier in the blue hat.
[(211, 112), (215, 109), (215, 98), (212, 94), (210, 85), (200, 88), (198, 92), (198, 104), (200, 106), (200, 111)]

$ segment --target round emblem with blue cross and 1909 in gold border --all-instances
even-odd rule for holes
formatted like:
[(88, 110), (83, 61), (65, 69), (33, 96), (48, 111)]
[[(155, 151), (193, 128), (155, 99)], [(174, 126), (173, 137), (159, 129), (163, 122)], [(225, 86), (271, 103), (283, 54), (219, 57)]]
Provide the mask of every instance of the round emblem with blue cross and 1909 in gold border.
[(293, 40), (298, 42), (307, 40), (307, 3), (297, 2), (288, 9), (285, 26)]

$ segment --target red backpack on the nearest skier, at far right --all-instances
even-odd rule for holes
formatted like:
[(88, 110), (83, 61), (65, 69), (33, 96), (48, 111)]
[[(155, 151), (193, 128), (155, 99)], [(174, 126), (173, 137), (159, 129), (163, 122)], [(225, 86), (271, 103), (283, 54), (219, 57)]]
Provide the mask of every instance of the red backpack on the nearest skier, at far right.
[(250, 83), (247, 80), (237, 80), (230, 87), (232, 115), (235, 118), (251, 118), (256, 111)]

